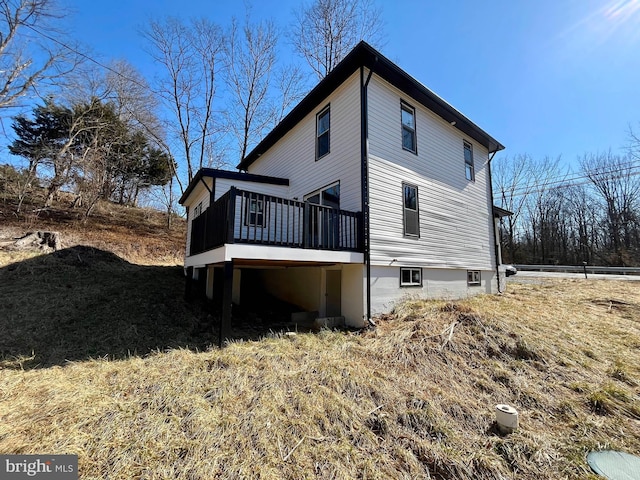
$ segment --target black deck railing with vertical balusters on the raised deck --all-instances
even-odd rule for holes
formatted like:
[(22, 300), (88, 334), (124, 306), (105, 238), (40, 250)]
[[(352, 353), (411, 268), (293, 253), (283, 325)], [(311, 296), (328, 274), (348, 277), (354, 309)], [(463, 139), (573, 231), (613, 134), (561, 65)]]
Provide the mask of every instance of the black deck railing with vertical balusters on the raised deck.
[(193, 219), (190, 255), (225, 243), (362, 251), (362, 215), (232, 187)]

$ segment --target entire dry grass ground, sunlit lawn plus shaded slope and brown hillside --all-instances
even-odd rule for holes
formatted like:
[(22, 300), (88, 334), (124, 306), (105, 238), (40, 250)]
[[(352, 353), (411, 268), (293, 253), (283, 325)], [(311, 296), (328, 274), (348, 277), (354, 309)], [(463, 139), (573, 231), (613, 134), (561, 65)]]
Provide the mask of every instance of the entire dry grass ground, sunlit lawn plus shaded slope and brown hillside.
[[(0, 248), (0, 452), (75, 453), (83, 479), (595, 480), (591, 449), (640, 454), (635, 283), (514, 284), (209, 349), (182, 300), (183, 223), (6, 207), (0, 237), (66, 248)], [(520, 412), (512, 435), (498, 403)]]

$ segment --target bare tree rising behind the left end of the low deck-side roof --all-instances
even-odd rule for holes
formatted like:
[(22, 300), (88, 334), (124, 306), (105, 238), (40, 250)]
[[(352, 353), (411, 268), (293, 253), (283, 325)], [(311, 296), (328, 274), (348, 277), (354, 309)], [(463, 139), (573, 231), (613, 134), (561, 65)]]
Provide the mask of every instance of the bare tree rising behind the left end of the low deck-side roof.
[(153, 58), (165, 69), (158, 90), (173, 111), (170, 125), (175, 126), (172, 133), (190, 182), (197, 169), (206, 165), (207, 152), (219, 133), (213, 107), (223, 35), (208, 20), (185, 24), (175, 18), (151, 22), (144, 35)]

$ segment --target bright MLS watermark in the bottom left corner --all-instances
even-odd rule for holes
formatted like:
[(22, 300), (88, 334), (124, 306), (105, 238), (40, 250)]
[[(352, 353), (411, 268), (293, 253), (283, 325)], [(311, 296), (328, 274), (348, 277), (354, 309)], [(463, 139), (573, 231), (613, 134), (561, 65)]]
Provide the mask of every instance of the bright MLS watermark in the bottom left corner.
[(0, 455), (0, 478), (78, 480), (78, 456)]

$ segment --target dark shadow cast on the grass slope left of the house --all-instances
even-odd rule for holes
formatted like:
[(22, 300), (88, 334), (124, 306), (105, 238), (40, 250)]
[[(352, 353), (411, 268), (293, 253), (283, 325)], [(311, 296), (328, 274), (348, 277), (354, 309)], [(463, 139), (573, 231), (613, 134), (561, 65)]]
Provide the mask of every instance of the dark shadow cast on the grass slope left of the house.
[(73, 247), (0, 268), (0, 369), (204, 350), (207, 313), (184, 301), (182, 267), (148, 267)]

